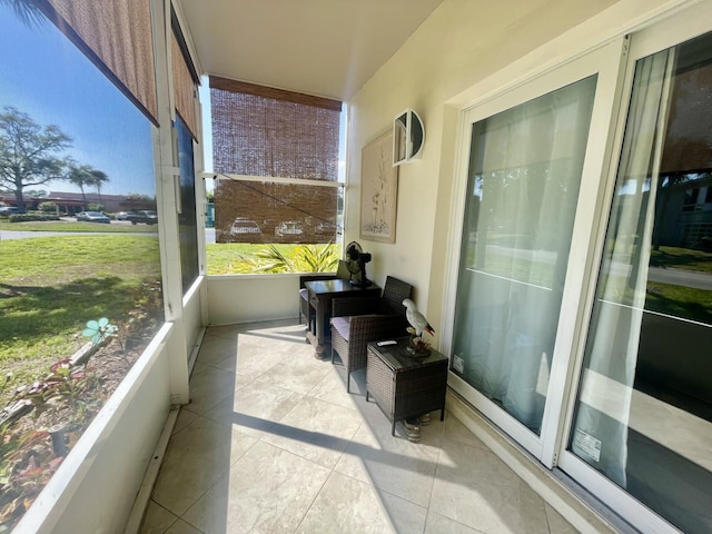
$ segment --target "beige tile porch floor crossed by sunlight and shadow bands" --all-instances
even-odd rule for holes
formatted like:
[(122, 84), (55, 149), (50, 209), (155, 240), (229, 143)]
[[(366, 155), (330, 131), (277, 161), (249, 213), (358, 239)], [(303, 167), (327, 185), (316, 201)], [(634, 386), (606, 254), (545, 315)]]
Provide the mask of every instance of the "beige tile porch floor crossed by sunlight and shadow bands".
[(448, 413), (393, 437), (295, 323), (207, 330), (141, 533), (575, 532)]

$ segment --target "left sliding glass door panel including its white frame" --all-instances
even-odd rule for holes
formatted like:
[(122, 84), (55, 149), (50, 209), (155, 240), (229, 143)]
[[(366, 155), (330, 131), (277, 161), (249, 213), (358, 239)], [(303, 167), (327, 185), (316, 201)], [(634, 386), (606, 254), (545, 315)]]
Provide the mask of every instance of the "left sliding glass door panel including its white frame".
[(468, 112), (449, 383), (547, 465), (543, 429), (563, 395), (551, 377), (572, 343), (560, 334), (575, 286), (568, 264), (572, 248), (586, 254), (576, 228), (593, 224), (578, 206), (592, 191), (595, 200), (603, 166), (605, 136), (591, 131), (612, 111), (621, 50), (613, 43)]

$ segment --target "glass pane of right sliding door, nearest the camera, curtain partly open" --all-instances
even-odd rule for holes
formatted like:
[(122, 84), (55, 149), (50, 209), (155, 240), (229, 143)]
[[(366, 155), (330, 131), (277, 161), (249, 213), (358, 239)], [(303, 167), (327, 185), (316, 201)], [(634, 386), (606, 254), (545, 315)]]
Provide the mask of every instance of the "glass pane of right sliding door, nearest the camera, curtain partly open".
[(566, 451), (712, 532), (712, 33), (637, 59), (620, 154)]

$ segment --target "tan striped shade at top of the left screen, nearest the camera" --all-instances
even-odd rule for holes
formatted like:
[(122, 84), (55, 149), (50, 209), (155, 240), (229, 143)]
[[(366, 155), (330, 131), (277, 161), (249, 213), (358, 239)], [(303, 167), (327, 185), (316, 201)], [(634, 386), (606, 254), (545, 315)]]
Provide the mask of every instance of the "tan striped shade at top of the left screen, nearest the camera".
[(37, 3), (158, 125), (148, 0), (37, 0)]

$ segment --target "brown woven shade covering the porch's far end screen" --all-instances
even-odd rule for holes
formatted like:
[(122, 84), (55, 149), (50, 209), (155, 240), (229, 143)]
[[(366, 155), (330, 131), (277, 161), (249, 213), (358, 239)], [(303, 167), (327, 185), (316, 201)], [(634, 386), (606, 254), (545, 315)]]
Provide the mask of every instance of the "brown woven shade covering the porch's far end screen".
[(265, 177), (264, 182), (218, 180), (217, 243), (334, 240), (336, 188), (298, 181), (338, 180), (342, 102), (210, 77), (210, 103), (214, 170)]

